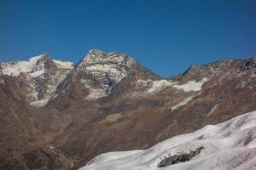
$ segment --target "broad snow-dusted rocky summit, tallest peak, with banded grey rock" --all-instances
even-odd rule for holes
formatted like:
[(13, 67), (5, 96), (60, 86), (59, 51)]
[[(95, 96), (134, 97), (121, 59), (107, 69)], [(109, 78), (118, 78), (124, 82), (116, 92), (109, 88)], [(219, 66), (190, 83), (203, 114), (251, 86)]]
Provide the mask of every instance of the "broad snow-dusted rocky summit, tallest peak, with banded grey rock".
[(104, 53), (92, 49), (76, 66), (77, 72), (84, 72), (88, 77), (81, 80), (90, 88), (88, 99), (97, 99), (110, 93), (113, 86), (122, 80), (132, 69), (136, 61), (119, 52)]

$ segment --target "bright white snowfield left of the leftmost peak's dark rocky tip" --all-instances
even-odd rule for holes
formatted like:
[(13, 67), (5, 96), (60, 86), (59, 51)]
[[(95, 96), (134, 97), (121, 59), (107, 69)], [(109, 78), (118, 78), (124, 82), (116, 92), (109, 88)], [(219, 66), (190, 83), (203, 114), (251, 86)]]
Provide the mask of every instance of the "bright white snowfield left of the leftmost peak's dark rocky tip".
[[(18, 77), (20, 73), (26, 73), (26, 72), (32, 72), (35, 71), (37, 67), (38, 59), (40, 59), (43, 56), (43, 54), (32, 57), (28, 59), (27, 61), (18, 61), (14, 64), (9, 63), (3, 63), (1, 67), (3, 68), (3, 74), (9, 75), (13, 77)], [(40, 71), (35, 71), (32, 73), (32, 76), (38, 77), (41, 74), (44, 74), (44, 69)]]

